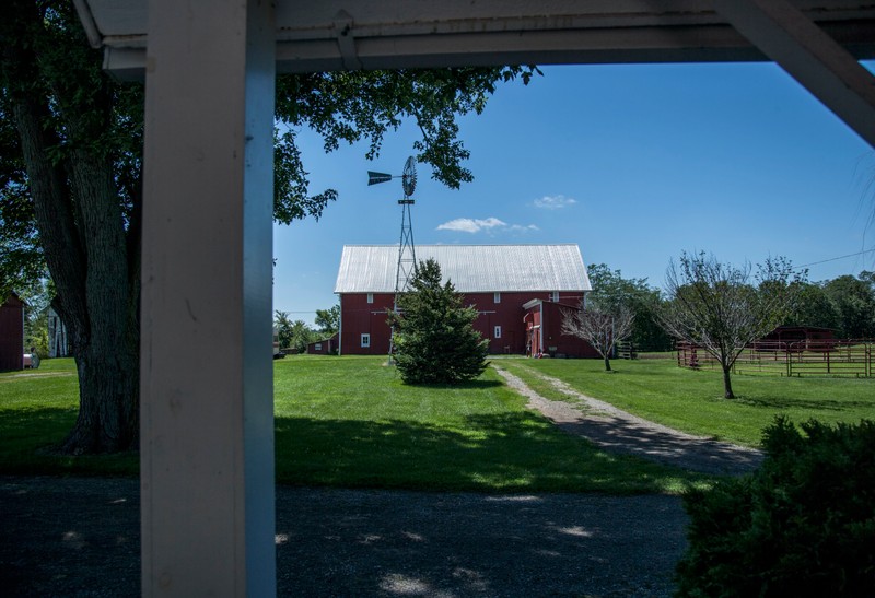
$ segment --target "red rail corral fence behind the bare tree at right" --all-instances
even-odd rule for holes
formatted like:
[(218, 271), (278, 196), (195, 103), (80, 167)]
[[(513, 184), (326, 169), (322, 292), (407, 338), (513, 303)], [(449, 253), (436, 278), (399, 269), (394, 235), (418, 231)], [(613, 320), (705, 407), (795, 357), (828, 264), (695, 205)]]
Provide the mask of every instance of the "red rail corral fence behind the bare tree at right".
[[(676, 351), (680, 367), (720, 370), (720, 363), (700, 347), (679, 342)], [(871, 378), (875, 377), (875, 340), (758, 341), (745, 347), (732, 371), (736, 374)]]

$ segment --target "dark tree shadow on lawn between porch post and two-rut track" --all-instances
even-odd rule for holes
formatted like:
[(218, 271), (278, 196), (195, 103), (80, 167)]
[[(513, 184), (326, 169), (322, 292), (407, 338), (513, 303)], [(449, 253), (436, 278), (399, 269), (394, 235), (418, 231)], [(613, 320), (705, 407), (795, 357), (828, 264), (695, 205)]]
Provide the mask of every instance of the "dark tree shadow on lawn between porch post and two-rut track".
[(661, 492), (692, 474), (608, 455), (529, 413), (472, 415), (457, 430), (410, 421), (277, 419), (277, 481), (479, 492)]

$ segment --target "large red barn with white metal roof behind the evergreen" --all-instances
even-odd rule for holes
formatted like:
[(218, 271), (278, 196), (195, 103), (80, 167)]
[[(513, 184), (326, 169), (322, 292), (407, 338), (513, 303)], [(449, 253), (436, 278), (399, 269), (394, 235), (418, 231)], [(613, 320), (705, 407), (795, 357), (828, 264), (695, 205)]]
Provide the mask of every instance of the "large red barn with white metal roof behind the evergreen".
[[(419, 245), (417, 260), (434, 259), (465, 304), (492, 354), (596, 356), (586, 342), (561, 333), (562, 310), (592, 290), (576, 245)], [(386, 354), (386, 312), (395, 298), (397, 245), (347, 245), (335, 293), (340, 297), (343, 355)]]

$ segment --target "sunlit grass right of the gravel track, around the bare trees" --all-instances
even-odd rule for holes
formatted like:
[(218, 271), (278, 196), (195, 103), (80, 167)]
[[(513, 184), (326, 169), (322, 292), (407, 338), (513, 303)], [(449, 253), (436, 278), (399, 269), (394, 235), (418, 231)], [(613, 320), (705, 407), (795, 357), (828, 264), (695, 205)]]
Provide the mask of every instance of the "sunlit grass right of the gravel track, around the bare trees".
[(612, 373), (598, 360), (504, 360), (499, 364), (520, 375), (544, 396), (560, 392), (538, 380), (540, 372), (574, 389), (665, 425), (724, 441), (758, 446), (762, 429), (775, 415), (794, 422), (858, 423), (875, 415), (875, 379), (732, 377), (737, 399), (723, 398), (722, 373), (677, 367), (674, 360), (612, 360)]

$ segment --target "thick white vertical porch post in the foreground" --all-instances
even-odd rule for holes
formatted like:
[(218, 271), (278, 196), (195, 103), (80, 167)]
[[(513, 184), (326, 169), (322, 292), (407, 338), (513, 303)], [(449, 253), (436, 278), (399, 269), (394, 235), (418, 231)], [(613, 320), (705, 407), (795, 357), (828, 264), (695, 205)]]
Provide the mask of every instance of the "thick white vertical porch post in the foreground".
[(272, 2), (151, 0), (144, 596), (276, 594)]

